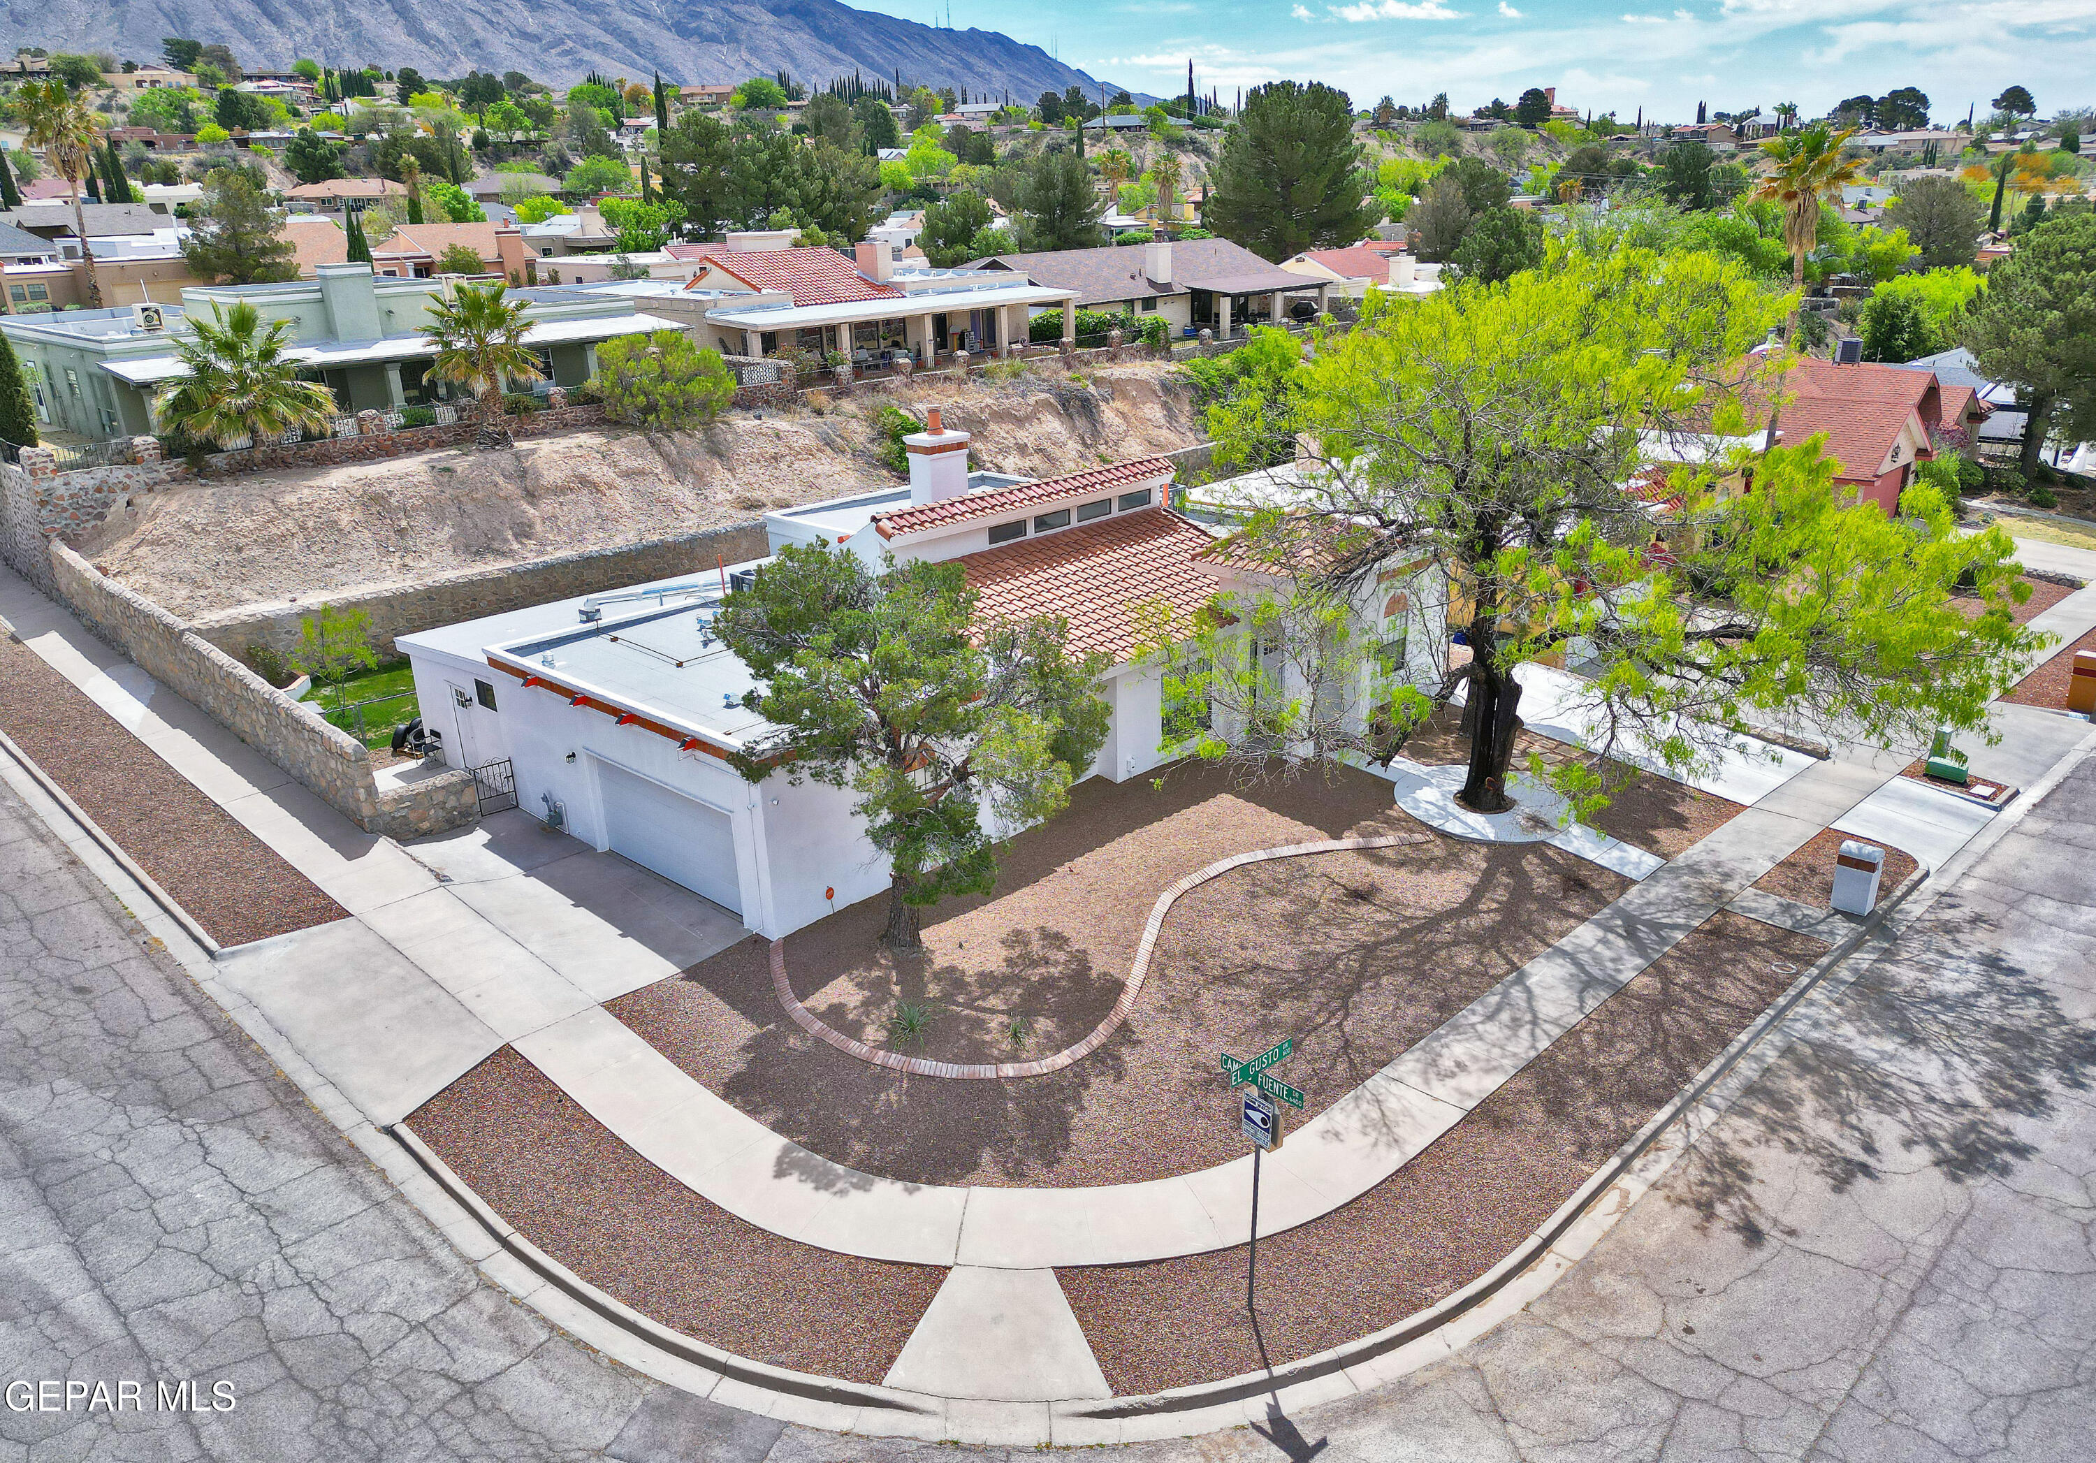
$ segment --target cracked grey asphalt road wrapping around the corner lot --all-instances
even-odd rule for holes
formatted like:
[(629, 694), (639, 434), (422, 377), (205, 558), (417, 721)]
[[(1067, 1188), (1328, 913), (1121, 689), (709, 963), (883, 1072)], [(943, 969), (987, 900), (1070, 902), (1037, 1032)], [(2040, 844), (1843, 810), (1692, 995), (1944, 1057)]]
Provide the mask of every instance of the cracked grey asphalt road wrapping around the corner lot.
[[(1522, 1316), (1373, 1396), (1126, 1463), (2092, 1453), (2096, 761), (1861, 970)], [(853, 1463), (482, 1283), (0, 788), (0, 1459)], [(943, 1448), (952, 1453), (977, 1453)]]

